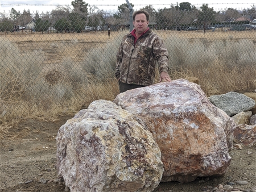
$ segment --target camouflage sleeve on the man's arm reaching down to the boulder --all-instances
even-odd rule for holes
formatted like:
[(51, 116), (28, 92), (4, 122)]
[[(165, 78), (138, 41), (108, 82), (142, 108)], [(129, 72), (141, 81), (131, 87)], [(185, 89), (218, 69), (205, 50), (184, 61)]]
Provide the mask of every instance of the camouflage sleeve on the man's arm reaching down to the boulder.
[(155, 55), (155, 59), (158, 62), (159, 73), (166, 72), (169, 70), (169, 62), (168, 62), (168, 51), (165, 47), (163, 40), (158, 37), (154, 41), (153, 52)]

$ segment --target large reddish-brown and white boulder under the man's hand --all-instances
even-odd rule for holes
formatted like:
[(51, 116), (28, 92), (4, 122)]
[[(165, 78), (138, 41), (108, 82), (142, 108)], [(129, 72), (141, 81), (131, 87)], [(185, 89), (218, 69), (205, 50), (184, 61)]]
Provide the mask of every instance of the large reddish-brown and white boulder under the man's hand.
[(133, 89), (114, 102), (143, 120), (162, 152), (162, 181), (190, 182), (227, 172), (233, 120), (200, 86), (175, 80)]

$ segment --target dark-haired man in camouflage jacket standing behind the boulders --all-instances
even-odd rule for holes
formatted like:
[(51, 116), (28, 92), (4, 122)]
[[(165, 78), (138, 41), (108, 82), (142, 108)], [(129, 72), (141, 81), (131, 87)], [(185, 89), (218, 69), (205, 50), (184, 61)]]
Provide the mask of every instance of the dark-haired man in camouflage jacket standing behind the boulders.
[(117, 53), (115, 77), (120, 93), (154, 84), (156, 62), (160, 82), (171, 81), (168, 75), (168, 52), (162, 39), (148, 28), (149, 14), (139, 10), (133, 14), (134, 30), (123, 37)]

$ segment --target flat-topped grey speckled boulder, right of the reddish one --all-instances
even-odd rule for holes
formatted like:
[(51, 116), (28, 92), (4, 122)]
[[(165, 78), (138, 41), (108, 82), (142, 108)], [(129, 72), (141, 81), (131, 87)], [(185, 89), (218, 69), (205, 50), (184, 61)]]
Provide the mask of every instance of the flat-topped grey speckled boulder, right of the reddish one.
[(236, 115), (242, 111), (249, 111), (255, 106), (254, 99), (233, 91), (222, 95), (211, 95), (209, 100), (229, 116)]

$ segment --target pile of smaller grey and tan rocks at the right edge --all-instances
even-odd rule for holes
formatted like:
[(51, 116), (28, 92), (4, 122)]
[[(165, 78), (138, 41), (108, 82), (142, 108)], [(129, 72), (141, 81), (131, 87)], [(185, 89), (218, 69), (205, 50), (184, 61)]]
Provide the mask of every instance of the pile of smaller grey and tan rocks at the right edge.
[(252, 145), (256, 143), (256, 93), (229, 92), (212, 95), (209, 101), (225, 111), (236, 123), (234, 139), (236, 143)]

